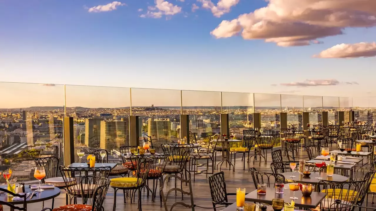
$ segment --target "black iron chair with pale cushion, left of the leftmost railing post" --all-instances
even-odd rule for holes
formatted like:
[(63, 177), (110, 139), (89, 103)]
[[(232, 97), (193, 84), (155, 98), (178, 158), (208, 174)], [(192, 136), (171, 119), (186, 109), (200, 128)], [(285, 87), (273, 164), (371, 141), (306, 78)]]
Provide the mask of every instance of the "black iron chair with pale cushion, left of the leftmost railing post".
[[(55, 185), (60, 189), (64, 189), (66, 191), (66, 186), (64, 179), (62, 177), (58, 177), (59, 172), (59, 158), (55, 156), (51, 157), (44, 157), (44, 158), (36, 158), (34, 159), (35, 166), (44, 166), (44, 170), (46, 176), (41, 180), (43, 184), (50, 184)], [(66, 195), (66, 204), (68, 204), (68, 195)], [(55, 202), (55, 198), (52, 198), (52, 206)], [(44, 207), (44, 201), (42, 202), (42, 207)]]

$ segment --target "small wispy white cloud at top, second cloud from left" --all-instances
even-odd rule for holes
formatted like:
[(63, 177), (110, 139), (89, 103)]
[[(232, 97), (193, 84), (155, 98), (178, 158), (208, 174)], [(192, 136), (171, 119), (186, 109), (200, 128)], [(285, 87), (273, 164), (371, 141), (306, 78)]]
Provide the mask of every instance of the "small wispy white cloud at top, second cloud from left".
[(161, 18), (162, 15), (175, 15), (180, 13), (182, 8), (164, 0), (155, 0), (155, 6), (149, 6), (147, 10), (146, 14), (140, 15), (141, 18)]

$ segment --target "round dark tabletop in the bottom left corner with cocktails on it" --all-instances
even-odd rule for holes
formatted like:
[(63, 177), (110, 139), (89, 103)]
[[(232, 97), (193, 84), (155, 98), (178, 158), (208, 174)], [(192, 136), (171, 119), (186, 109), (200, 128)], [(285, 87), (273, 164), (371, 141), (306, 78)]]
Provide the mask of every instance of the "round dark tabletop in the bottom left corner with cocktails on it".
[[(6, 185), (1, 185), (0, 188), (4, 188), (6, 189)], [(33, 191), (35, 191), (35, 189), (31, 190), (30, 189), (30, 186), (25, 184), (25, 192), (29, 192), (29, 193), (33, 193)], [(36, 203), (36, 202), (42, 202), (42, 201), (45, 201), (45, 200), (49, 200), (49, 199), (53, 199), (57, 196), (60, 195), (60, 188), (58, 187), (54, 187), (54, 188), (44, 188), (44, 191), (42, 192), (36, 192), (35, 191), (35, 195), (30, 199), (30, 196), (27, 197), (26, 199), (26, 203)], [(12, 205), (19, 205), (19, 204), (23, 204), (23, 200), (12, 200), (13, 197), (11, 196), (8, 196), (8, 193), (0, 193), (0, 200), (3, 201), (3, 202), (8, 202)], [(11, 211), (13, 211), (13, 209), (11, 208)]]

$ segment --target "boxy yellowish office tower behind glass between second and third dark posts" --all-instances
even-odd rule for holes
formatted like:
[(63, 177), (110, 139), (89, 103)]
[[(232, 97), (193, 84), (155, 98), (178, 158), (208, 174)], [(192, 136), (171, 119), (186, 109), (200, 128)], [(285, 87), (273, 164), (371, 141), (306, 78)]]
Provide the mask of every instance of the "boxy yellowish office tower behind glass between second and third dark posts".
[(162, 143), (170, 143), (171, 122), (164, 119), (149, 118), (148, 136), (152, 137), (154, 146), (160, 146)]

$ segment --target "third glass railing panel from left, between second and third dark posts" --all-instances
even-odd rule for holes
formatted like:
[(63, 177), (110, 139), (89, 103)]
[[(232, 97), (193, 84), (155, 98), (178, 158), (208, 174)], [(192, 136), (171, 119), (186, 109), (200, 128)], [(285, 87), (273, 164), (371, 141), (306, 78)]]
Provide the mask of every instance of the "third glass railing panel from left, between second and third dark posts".
[[(155, 147), (180, 139), (180, 90), (132, 88), (132, 115), (142, 124), (141, 139)], [(140, 127), (141, 128), (141, 127)]]

